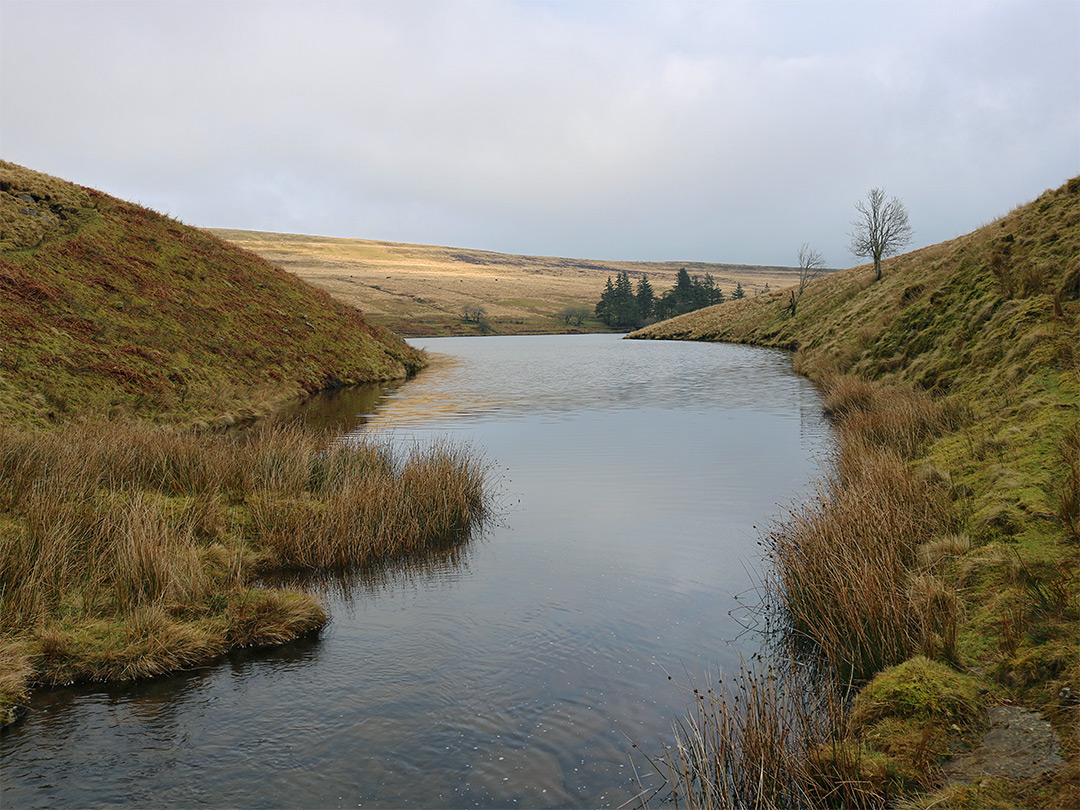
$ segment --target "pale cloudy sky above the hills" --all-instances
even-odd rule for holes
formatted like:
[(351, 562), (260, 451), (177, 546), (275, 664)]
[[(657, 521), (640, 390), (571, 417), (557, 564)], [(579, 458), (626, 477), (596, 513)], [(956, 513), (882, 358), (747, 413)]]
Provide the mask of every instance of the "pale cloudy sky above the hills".
[(1080, 174), (1080, 1), (0, 0), (0, 157), (200, 227), (832, 267)]

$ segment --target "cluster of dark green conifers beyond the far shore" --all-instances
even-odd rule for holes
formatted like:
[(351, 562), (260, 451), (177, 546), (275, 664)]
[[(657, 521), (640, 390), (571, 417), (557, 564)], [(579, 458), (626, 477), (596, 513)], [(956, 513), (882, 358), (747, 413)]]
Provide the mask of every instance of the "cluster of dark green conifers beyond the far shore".
[[(740, 283), (731, 298), (744, 298), (745, 295)], [(630, 273), (622, 270), (613, 282), (608, 278), (595, 314), (612, 328), (633, 329), (652, 321), (663, 321), (702, 307), (724, 303), (725, 300), (724, 291), (716, 285), (710, 273), (705, 273), (704, 278), (690, 275), (684, 268), (678, 271), (675, 286), (657, 296), (648, 275), (643, 273), (634, 285)]]

